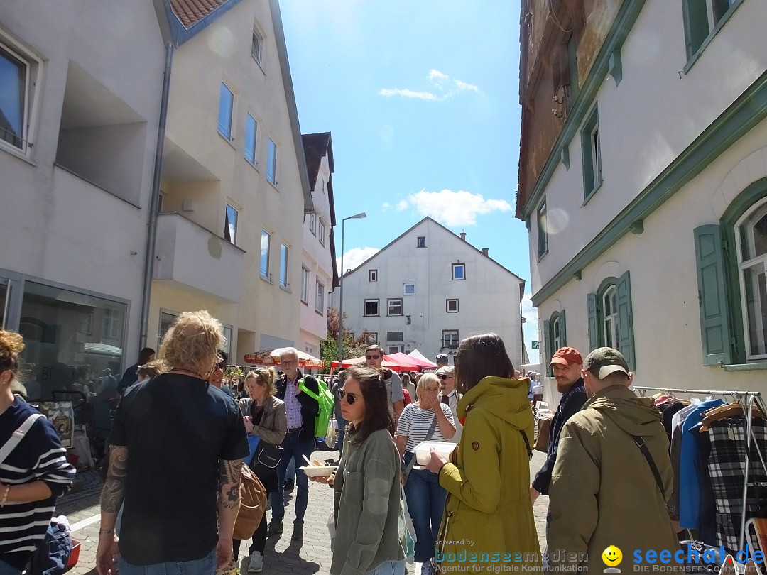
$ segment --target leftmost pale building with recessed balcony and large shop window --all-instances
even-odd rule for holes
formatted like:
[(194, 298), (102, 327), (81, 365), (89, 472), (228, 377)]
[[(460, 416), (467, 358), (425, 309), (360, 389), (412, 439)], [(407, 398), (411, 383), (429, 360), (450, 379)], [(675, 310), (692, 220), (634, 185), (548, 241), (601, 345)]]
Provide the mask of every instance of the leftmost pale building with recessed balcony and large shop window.
[(163, 59), (151, 2), (0, 2), (0, 324), (33, 399), (137, 356)]

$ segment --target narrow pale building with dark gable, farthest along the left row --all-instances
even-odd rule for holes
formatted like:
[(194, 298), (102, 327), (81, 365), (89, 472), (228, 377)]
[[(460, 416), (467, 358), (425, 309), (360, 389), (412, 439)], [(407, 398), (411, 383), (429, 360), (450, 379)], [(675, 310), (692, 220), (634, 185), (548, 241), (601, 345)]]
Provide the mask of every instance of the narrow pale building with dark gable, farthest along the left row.
[(299, 349), (320, 357), (328, 336), (328, 292), (338, 285), (333, 202), (333, 140), (330, 132), (302, 136), (314, 211), (304, 215)]

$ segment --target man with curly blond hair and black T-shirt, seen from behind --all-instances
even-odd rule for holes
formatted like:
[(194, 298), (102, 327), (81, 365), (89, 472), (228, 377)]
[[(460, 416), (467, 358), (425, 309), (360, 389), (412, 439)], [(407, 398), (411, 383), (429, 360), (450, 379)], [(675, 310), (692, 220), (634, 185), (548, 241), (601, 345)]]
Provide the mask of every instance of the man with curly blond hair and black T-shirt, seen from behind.
[(101, 493), (100, 575), (114, 573), (118, 554), (122, 575), (177, 570), (179, 563), (213, 575), (231, 561), (249, 449), (237, 404), (208, 383), (223, 343), (222, 326), (207, 311), (180, 314), (160, 347), (167, 373), (123, 397)]

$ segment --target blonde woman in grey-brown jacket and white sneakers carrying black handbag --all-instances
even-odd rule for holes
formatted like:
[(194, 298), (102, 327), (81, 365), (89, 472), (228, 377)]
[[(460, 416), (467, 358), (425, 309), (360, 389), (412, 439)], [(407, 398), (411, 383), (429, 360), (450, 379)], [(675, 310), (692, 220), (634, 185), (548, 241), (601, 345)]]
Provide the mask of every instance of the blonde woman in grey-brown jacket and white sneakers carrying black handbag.
[[(275, 378), (277, 374), (274, 368), (249, 371), (245, 376), (245, 391), (248, 397), (239, 400), (239, 408), (245, 422), (245, 430), (250, 435), (257, 435), (261, 443), (276, 446), (280, 445), (288, 432), (288, 421), (285, 417), (285, 402), (277, 399), (277, 387)], [(258, 462), (247, 462), (251, 465), (255, 475), (264, 485), (267, 494), (278, 491), (277, 468), (268, 468), (258, 465)], [(237, 560), (239, 554), (239, 540), (234, 540), (234, 557)], [(264, 548), (266, 547), (266, 514), (262, 517), (261, 524), (253, 534), (253, 540), (248, 550), (250, 554), (247, 570), (250, 573), (259, 573), (264, 567)], [(242, 571), (245, 571), (246, 559), (242, 560)]]

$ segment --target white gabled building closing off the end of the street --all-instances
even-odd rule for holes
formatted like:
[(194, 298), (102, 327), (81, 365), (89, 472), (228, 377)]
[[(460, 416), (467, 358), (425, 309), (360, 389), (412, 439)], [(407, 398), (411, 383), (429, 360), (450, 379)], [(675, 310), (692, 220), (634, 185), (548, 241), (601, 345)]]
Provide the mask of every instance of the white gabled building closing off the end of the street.
[(344, 327), (369, 332), (386, 353), (417, 349), (433, 360), (452, 356), (465, 337), (492, 331), (512, 363), (522, 363), (525, 281), (432, 218), (348, 271), (343, 284)]

